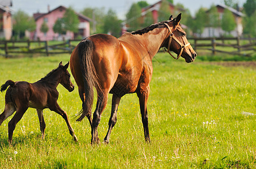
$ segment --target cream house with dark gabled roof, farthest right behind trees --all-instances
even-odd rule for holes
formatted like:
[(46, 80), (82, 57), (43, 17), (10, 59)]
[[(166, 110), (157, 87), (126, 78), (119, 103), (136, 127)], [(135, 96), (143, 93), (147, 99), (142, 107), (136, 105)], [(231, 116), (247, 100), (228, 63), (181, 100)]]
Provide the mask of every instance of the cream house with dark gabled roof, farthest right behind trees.
[[(236, 29), (234, 29), (230, 34), (233, 37), (242, 35), (242, 32), (243, 32), (242, 17), (244, 17), (245, 14), (243, 14), (242, 12), (240, 12), (232, 7), (222, 5), (222, 4), (216, 5), (216, 8), (217, 8), (217, 12), (219, 13), (219, 20), (222, 19), (225, 9), (232, 12), (237, 26), (236, 26)], [(201, 34), (201, 37), (221, 37), (221, 36), (223, 36), (223, 34), (225, 34), (225, 32), (220, 27), (219, 28), (207, 27), (207, 28), (204, 28), (203, 33)]]

